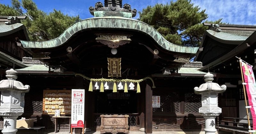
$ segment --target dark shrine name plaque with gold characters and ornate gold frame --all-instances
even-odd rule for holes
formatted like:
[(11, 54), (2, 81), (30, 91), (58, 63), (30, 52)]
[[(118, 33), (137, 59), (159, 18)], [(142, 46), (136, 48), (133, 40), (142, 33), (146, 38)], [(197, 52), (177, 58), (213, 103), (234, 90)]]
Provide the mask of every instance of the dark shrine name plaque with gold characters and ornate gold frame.
[(121, 77), (121, 58), (108, 58), (108, 77)]

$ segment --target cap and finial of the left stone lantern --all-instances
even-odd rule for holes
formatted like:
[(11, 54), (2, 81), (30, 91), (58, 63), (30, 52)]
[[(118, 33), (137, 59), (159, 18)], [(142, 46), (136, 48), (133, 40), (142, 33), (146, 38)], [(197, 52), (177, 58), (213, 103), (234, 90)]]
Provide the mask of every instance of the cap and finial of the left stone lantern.
[(22, 93), (26, 93), (29, 91), (30, 86), (29, 85), (23, 85), (21, 82), (16, 81), (18, 78), (18, 72), (10, 69), (6, 71), (6, 77), (7, 80), (0, 81), (0, 91), (20, 91)]

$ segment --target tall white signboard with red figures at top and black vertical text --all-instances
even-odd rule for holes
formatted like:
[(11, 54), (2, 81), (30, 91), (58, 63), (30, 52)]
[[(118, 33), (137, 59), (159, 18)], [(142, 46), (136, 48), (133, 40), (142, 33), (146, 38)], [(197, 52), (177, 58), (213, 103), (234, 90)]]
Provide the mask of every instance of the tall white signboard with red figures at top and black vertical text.
[(84, 128), (84, 89), (72, 89), (71, 128)]

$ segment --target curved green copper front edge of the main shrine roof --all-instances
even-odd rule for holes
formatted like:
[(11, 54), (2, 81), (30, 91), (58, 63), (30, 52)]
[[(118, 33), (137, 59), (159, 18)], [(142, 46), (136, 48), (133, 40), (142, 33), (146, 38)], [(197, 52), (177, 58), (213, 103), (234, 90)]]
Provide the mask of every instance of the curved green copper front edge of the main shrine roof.
[(129, 18), (108, 16), (95, 17), (78, 21), (67, 28), (59, 37), (48, 41), (21, 41), (24, 48), (53, 48), (62, 45), (78, 31), (98, 29), (124, 29), (145, 33), (151, 36), (163, 49), (173, 52), (196, 53), (198, 47), (180, 46), (168, 42), (164, 37), (148, 24)]

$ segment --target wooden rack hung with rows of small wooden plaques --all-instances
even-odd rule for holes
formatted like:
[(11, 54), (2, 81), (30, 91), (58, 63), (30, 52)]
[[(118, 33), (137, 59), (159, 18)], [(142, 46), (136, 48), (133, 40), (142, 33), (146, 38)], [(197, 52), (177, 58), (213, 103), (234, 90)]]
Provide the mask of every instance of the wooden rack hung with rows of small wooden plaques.
[(43, 114), (71, 114), (71, 90), (44, 90)]

